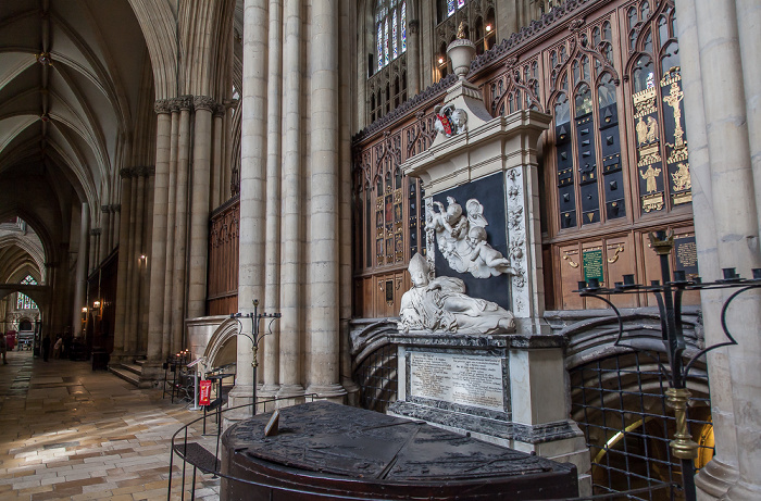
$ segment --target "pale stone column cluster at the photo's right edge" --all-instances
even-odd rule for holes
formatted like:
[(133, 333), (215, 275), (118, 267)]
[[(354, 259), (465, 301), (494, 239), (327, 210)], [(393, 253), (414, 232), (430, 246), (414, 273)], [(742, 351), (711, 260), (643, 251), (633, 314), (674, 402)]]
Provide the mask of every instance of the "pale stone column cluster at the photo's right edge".
[[(761, 4), (754, 0), (676, 2), (689, 134), (700, 274), (743, 276), (761, 267)], [(703, 291), (706, 345), (724, 341), (728, 291)], [(761, 295), (746, 292), (727, 313), (738, 346), (709, 355), (716, 455), (696, 478), (700, 499), (758, 499), (761, 492)]]

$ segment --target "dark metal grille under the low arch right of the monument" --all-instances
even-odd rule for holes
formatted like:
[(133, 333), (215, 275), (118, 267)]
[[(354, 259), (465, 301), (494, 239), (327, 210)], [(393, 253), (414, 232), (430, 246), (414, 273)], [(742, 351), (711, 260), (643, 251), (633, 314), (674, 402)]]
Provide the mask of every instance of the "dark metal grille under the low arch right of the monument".
[[(627, 499), (684, 499), (681, 461), (669, 442), (676, 421), (666, 405), (665, 355), (624, 353), (570, 371), (572, 416), (584, 431), (592, 461), (596, 494), (622, 493), (666, 484), (668, 489), (631, 494)], [(696, 367), (688, 380), (693, 397), (687, 423), (698, 441), (696, 468), (712, 456), (708, 375)]]

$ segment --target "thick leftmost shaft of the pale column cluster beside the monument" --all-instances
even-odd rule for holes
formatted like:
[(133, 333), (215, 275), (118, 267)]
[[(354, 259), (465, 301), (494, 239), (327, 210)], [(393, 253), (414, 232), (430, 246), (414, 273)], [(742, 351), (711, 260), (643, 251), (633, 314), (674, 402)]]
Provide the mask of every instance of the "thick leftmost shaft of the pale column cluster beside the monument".
[[(238, 311), (248, 313), (253, 311), (253, 300), (263, 300), (264, 293), (267, 0), (246, 0), (244, 9)], [(252, 360), (251, 342), (239, 337), (232, 405), (251, 401)]]

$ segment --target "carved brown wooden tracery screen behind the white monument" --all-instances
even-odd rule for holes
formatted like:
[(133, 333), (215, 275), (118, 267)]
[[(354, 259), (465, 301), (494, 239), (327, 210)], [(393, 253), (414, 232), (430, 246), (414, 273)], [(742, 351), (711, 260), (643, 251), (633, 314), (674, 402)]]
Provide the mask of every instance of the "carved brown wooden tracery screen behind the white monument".
[[(660, 279), (647, 238), (656, 229), (673, 229), (682, 238), (672, 267), (697, 273), (674, 26), (672, 0), (566, 2), (471, 66), (469, 78), (483, 89), (492, 115), (534, 109), (554, 118), (539, 145), (548, 309), (606, 308), (573, 292), (579, 280), (598, 278), (612, 286), (624, 274), (634, 274), (639, 283)], [(435, 137), (432, 109), (442, 100), (446, 85), (373, 124), (369, 130), (374, 137), (365, 130), (355, 139), (355, 168), (364, 173), (362, 187), (355, 185), (361, 214), (355, 231), (365, 246), (355, 261), (357, 316), (398, 313), (396, 306), (379, 308), (385, 303), (377, 295), (387, 290), (387, 281), (396, 286), (400, 275), (407, 279), (412, 249), (424, 247), (414, 242), (424, 235), (423, 193), (417, 183), (402, 178), (402, 193), (410, 197), (410, 203), (402, 203), (406, 250), (401, 261), (388, 252), (398, 226), (396, 220), (391, 226), (385, 220), (386, 199), (392, 195), (391, 206), (399, 199), (394, 198), (397, 185), (384, 176), (392, 179), (397, 159), (403, 162), (423, 151)], [(414, 209), (412, 200), (419, 203)], [(382, 220), (372, 221), (382, 208)], [(631, 308), (651, 301), (611, 299)]]

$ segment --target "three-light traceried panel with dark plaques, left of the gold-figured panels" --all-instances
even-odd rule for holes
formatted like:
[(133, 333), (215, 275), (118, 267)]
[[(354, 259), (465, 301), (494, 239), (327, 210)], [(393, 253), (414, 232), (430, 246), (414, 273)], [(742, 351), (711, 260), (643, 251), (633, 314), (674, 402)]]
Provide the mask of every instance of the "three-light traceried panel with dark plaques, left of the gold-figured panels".
[(610, 20), (550, 50), (560, 229), (626, 216)]

